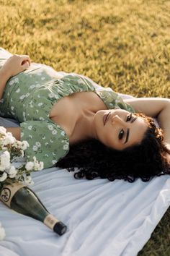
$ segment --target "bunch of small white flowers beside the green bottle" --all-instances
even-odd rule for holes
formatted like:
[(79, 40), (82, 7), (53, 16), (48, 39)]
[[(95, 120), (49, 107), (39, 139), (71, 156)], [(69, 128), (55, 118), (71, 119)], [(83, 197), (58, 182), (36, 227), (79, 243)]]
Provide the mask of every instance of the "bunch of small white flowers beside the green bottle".
[[(16, 140), (11, 132), (6, 132), (4, 127), (0, 127), (0, 192), (6, 179), (34, 184), (30, 173), (42, 170), (43, 162), (38, 162), (35, 157), (32, 162), (26, 162), (24, 150), (27, 147), (27, 141)], [(0, 240), (4, 239), (4, 236), (5, 231), (0, 223)]]

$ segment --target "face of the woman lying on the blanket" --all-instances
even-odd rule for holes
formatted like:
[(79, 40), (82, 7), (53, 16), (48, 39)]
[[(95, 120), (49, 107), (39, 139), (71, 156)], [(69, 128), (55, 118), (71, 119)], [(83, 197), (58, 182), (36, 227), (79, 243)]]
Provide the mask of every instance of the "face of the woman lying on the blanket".
[(116, 150), (138, 144), (147, 128), (148, 124), (142, 117), (122, 109), (101, 110), (94, 116), (97, 139)]

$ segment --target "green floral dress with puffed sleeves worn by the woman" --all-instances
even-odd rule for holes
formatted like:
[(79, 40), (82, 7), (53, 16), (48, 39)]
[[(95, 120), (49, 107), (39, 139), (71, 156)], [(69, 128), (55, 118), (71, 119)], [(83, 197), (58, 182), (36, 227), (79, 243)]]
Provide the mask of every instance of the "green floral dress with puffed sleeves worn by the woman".
[[(0, 59), (0, 67), (3, 63)], [(32, 64), (30, 69), (8, 80), (0, 102), (0, 115), (21, 123), (21, 140), (30, 144), (26, 150), (28, 161), (36, 156), (48, 168), (68, 153), (68, 135), (50, 119), (49, 114), (55, 103), (71, 93), (93, 91), (107, 108), (134, 112), (117, 93), (112, 90), (97, 91), (94, 85), (88, 77), (53, 72), (50, 67), (41, 64)]]

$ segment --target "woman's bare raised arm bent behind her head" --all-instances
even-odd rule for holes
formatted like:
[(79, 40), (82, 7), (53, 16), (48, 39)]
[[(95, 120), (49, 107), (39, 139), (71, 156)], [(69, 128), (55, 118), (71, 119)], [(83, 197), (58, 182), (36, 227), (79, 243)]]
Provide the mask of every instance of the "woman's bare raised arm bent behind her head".
[(164, 142), (170, 145), (170, 100), (168, 98), (134, 98), (124, 101), (129, 103), (136, 112), (156, 117), (164, 130)]

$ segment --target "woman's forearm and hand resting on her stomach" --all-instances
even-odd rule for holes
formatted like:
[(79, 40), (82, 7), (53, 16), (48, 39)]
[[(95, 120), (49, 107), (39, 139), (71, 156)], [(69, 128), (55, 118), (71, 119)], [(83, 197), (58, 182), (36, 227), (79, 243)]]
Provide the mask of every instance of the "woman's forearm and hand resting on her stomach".
[(6, 82), (10, 77), (27, 69), (30, 66), (30, 57), (27, 55), (13, 55), (5, 62), (0, 69), (0, 100), (4, 93)]

